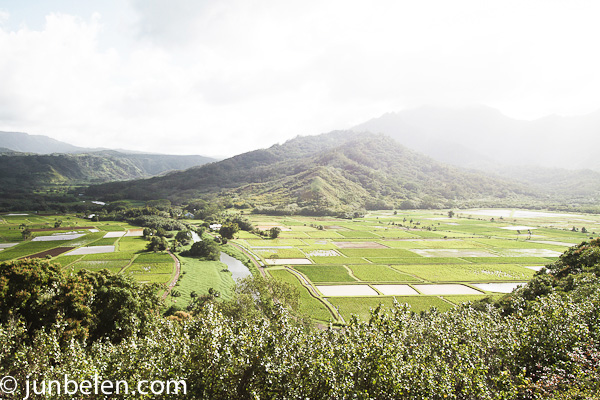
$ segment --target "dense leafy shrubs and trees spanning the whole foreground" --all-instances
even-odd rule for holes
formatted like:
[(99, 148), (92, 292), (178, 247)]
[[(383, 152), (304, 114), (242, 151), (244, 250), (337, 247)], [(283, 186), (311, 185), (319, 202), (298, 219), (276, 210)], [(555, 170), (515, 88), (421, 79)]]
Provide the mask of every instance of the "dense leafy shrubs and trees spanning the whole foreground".
[[(600, 240), (593, 240), (499, 303), (420, 314), (396, 304), (342, 329), (308, 327), (286, 285), (248, 281), (231, 302), (205, 298), (193, 314), (168, 319), (135, 317), (143, 302), (105, 305), (120, 310), (118, 321), (144, 323), (125, 330), (107, 324), (101, 337), (70, 334), (65, 299), (79, 286), (49, 286), (48, 279), (74, 279), (96, 293), (124, 285), (125, 298), (154, 304), (147, 288), (115, 285), (104, 272), (61, 276), (47, 262), (4, 263), (0, 374), (23, 382), (28, 374), (60, 380), (98, 373), (132, 387), (140, 379), (183, 379), (188, 393), (179, 398), (196, 399), (593, 399), (600, 391), (599, 261)], [(90, 321), (102, 311), (85, 306)], [(50, 318), (31, 325), (31, 312)]]

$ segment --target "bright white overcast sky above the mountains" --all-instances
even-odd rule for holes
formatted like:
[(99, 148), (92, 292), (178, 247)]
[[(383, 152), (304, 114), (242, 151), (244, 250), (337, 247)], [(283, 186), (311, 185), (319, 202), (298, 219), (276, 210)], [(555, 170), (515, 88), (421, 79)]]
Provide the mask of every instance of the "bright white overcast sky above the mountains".
[(386, 112), (600, 108), (596, 0), (2, 0), (0, 130), (234, 155)]

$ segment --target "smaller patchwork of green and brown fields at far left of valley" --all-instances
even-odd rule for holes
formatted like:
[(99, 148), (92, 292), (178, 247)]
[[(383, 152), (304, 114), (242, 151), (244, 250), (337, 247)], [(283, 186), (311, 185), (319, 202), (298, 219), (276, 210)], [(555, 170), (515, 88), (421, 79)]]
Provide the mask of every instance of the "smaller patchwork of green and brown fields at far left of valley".
[[(60, 227), (55, 224), (60, 222)], [(23, 240), (22, 230), (32, 237)], [(47, 258), (67, 271), (108, 269), (141, 283), (166, 284), (175, 263), (166, 253), (148, 253), (142, 229), (123, 222), (91, 222), (69, 215), (0, 215), (0, 261)]]

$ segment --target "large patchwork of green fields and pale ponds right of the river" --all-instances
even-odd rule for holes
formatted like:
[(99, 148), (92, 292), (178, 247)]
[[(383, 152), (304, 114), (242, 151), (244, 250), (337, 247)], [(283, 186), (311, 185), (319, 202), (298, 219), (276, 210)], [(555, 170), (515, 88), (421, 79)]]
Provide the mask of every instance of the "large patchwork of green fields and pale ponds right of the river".
[(250, 219), (261, 230), (279, 227), (279, 237), (240, 232), (235, 242), (298, 288), (303, 311), (337, 323), (394, 301), (443, 311), (502, 296), (600, 232), (599, 215), (500, 209)]

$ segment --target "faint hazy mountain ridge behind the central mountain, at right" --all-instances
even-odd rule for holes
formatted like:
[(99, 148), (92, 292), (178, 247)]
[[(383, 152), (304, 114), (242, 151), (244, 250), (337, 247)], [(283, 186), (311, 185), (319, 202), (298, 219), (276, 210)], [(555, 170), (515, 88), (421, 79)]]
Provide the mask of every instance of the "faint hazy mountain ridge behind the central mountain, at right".
[(351, 130), (384, 133), (442, 162), (469, 168), (528, 164), (600, 171), (592, 151), (600, 145), (600, 111), (526, 121), (486, 106), (423, 106), (386, 113)]

